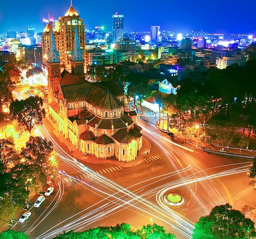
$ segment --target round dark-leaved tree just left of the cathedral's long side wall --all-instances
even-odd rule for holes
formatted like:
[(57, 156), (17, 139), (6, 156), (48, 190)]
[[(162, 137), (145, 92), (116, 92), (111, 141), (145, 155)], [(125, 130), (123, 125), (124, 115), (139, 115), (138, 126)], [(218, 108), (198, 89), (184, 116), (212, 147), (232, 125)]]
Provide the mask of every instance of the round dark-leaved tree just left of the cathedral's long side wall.
[(25, 126), (31, 135), (32, 129), (41, 125), (46, 116), (46, 111), (42, 108), (43, 103), (42, 98), (38, 96), (30, 96), (25, 100), (16, 99), (10, 104), (11, 119)]

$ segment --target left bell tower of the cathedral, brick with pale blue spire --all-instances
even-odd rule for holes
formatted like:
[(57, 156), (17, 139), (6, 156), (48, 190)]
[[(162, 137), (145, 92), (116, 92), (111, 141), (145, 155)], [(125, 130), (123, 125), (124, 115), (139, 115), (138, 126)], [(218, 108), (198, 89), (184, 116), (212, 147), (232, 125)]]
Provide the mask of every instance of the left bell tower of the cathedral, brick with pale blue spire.
[(61, 80), (59, 52), (56, 49), (52, 27), (50, 32), (50, 49), (48, 52), (47, 69), (48, 69), (48, 99), (50, 103), (58, 98), (58, 92), (59, 92), (60, 80)]

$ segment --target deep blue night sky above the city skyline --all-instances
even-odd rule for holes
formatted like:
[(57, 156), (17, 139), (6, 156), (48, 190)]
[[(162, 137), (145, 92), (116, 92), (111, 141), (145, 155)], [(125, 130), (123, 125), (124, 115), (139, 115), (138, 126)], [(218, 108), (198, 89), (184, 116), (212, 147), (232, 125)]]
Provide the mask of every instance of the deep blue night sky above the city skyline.
[[(160, 25), (160, 31), (208, 33), (244, 33), (256, 35), (256, 0), (73, 0), (74, 9), (83, 18), (86, 29), (104, 26), (112, 31), (112, 15), (124, 15), (124, 31), (150, 31)], [(70, 7), (68, 0), (2, 1), (0, 4), (0, 34), (10, 31), (35, 32), (44, 29), (43, 18), (58, 19)]]

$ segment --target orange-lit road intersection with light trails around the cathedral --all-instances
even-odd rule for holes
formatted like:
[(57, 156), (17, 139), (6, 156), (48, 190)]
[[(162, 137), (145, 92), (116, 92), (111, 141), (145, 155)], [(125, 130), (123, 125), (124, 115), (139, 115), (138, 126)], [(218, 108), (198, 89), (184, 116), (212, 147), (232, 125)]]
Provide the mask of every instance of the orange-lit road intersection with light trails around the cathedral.
[[(210, 155), (178, 143), (160, 132), (154, 120), (139, 119), (143, 136), (151, 142), (151, 153), (143, 156), (143, 163), (123, 168), (79, 163), (46, 120), (41, 134), (54, 143), (59, 155), (59, 179), (43, 207), (32, 209), (31, 218), (15, 230), (25, 231), (29, 238), (51, 238), (63, 230), (83, 231), (122, 222), (137, 228), (155, 222), (177, 238), (191, 238), (194, 223), (216, 205), (230, 203), (239, 210), (248, 204), (256, 207), (246, 175), (250, 161)], [(181, 194), (184, 204), (167, 206), (163, 197), (168, 192)]]

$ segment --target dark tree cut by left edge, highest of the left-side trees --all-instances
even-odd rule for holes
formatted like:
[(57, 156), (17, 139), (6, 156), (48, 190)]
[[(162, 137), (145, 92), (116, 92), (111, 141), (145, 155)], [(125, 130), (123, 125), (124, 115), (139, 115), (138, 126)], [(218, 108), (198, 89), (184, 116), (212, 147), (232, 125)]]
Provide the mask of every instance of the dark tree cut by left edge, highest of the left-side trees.
[(11, 81), (9, 74), (0, 70), (0, 113), (3, 112), (3, 105), (9, 105), (13, 100), (14, 89), (15, 83)]

